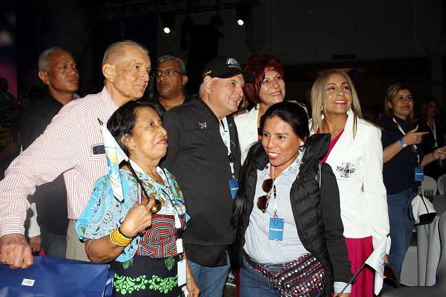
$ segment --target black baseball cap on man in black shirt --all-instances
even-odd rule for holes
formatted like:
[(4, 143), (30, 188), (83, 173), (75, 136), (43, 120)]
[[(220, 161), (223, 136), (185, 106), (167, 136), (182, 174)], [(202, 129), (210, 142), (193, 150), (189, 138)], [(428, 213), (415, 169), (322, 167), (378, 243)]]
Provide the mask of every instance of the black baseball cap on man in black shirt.
[(237, 74), (242, 74), (245, 83), (254, 83), (254, 74), (247, 70), (242, 70), (239, 63), (235, 58), (230, 56), (220, 56), (213, 58), (211, 61), (206, 63), (203, 69), (202, 80), (204, 76), (211, 76), (211, 78), (230, 78), (236, 76)]

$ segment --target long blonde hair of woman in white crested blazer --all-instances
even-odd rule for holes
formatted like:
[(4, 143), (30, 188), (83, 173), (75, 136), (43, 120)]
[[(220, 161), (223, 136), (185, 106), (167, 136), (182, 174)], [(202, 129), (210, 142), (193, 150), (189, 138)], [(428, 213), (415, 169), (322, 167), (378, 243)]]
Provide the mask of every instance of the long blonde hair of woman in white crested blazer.
[(353, 118), (353, 137), (356, 136), (357, 133), (357, 119), (363, 118), (361, 113), (361, 104), (359, 103), (359, 98), (356, 90), (354, 89), (352, 80), (350, 76), (346, 72), (341, 69), (331, 69), (327, 72), (321, 74), (318, 78), (316, 78), (315, 83), (311, 89), (311, 107), (312, 107), (312, 122), (311, 122), (311, 130), (316, 133), (317, 129), (321, 127), (322, 124), (322, 115), (323, 118), (328, 118), (326, 113), (326, 97), (327, 97), (327, 85), (328, 80), (333, 74), (339, 74), (346, 78), (348, 82), (348, 86), (352, 90), (352, 111), (354, 114)]

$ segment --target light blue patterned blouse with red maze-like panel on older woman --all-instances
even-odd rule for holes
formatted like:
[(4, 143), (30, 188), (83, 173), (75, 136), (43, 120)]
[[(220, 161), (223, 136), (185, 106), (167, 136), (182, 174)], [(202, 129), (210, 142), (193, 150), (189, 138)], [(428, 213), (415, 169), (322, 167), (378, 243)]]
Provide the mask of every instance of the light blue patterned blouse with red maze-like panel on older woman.
[[(157, 171), (164, 179), (165, 185), (154, 182), (145, 174), (137, 174), (144, 184), (147, 195), (159, 199), (162, 208), (156, 214), (152, 214), (152, 225), (147, 229), (144, 236), (136, 236), (124, 248), (116, 261), (128, 261), (135, 254), (155, 258), (177, 254), (173, 215), (179, 214), (182, 230), (184, 230), (186, 222), (189, 221), (189, 215), (186, 214), (182, 192), (175, 177), (167, 170), (161, 170), (160, 167), (157, 167)], [(138, 200), (136, 179), (127, 170), (121, 169), (120, 175), (124, 192), (123, 201), (114, 198), (108, 175), (100, 177), (94, 183), (92, 196), (76, 221), (76, 232), (81, 240), (94, 240), (108, 236), (112, 230), (120, 226), (129, 209), (135, 205)], [(169, 203), (173, 207), (169, 207)]]

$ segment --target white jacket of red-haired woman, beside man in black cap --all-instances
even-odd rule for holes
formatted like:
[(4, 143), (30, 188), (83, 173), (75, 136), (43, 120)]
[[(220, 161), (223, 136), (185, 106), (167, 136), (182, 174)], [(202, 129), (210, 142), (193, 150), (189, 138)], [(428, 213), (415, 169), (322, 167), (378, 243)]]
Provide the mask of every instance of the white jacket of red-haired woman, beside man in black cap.
[(253, 108), (248, 113), (237, 115), (234, 118), (239, 136), (240, 151), (242, 152), (242, 164), (246, 159), (246, 155), (248, 155), (251, 145), (259, 140), (257, 133), (258, 107), (259, 105), (257, 105), (257, 110)]

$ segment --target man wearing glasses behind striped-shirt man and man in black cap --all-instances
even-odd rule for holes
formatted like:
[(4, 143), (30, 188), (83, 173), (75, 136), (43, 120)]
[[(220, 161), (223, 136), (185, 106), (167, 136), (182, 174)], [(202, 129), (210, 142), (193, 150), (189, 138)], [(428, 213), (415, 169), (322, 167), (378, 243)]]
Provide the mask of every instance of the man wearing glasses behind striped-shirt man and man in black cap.
[(162, 112), (192, 100), (192, 96), (184, 89), (188, 78), (186, 65), (180, 58), (160, 56), (155, 77), (158, 94), (151, 100), (158, 103)]

